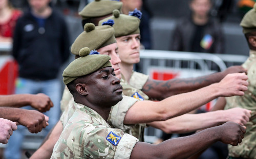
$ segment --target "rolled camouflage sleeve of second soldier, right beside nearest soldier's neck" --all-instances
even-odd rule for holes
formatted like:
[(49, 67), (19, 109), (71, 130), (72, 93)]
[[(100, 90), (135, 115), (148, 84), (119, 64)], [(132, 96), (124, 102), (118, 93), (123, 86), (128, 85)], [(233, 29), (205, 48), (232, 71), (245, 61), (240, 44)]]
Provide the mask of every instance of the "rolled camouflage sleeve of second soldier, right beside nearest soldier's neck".
[(123, 96), (123, 99), (112, 108), (110, 122), (115, 128), (119, 128), (125, 132), (133, 128), (134, 125), (124, 125), (123, 121), (127, 111), (137, 101), (138, 99), (133, 97)]

